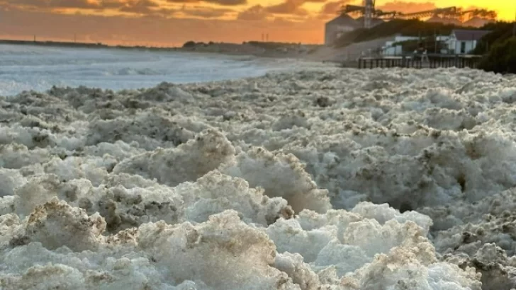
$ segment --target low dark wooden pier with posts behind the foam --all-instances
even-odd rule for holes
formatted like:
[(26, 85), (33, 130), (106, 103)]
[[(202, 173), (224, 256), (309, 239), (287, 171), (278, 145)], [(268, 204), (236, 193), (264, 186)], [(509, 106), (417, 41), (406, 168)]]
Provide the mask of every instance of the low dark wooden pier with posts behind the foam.
[(359, 69), (403, 67), (413, 69), (437, 69), (456, 67), (464, 69), (469, 67), (476, 69), (481, 56), (478, 55), (449, 55), (449, 54), (428, 54), (409, 55), (399, 57), (361, 57), (358, 61)]

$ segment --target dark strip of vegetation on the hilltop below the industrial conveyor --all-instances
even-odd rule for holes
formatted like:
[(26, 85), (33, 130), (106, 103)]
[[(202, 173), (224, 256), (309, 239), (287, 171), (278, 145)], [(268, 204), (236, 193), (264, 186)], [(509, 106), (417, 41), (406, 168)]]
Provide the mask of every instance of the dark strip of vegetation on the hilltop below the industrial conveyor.
[(376, 38), (389, 37), (396, 34), (403, 36), (429, 37), (436, 33), (439, 35), (449, 35), (451, 30), (457, 29), (456, 25), (444, 23), (430, 23), (417, 19), (403, 20), (394, 19), (374, 26), (370, 29), (358, 29), (342, 35), (335, 42), (336, 47), (345, 47), (354, 42), (374, 40)]

